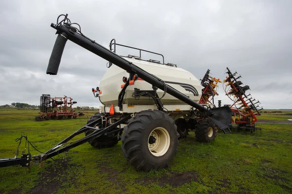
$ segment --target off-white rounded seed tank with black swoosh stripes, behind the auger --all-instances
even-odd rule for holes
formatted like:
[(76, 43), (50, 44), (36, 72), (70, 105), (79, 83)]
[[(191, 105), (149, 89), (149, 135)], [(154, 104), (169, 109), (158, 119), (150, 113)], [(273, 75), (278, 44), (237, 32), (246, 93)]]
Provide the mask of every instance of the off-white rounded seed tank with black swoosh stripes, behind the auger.
[[(190, 72), (175, 66), (151, 63), (148, 61), (143, 61), (135, 58), (123, 57), (127, 61), (144, 69), (148, 73), (155, 75), (156, 77), (165, 81), (166, 84), (180, 91), (187, 97), (198, 102), (201, 98), (201, 83), (200, 81)], [(129, 77), (129, 73), (126, 70), (112, 65), (107, 72), (104, 74), (102, 80), (100, 81), (100, 100), (106, 106), (113, 104), (118, 105), (118, 96), (124, 84), (123, 77)], [(153, 105), (154, 101), (150, 97), (132, 97), (134, 93), (134, 88), (140, 90), (153, 90), (152, 85), (143, 81), (141, 79), (134, 82), (133, 85), (129, 85), (124, 96), (124, 102), (127, 105)], [(158, 89), (157, 94), (162, 97), (164, 94), (163, 90)], [(161, 102), (165, 105), (186, 105), (183, 101), (173, 97), (169, 94), (161, 99)], [(191, 107), (187, 106), (189, 110)]]

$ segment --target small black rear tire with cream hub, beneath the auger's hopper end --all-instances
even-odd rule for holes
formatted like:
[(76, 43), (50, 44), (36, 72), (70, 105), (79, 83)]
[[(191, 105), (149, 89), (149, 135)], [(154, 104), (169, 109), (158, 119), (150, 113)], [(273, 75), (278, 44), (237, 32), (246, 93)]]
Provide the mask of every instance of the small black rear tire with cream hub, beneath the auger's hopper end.
[(202, 120), (198, 122), (195, 134), (199, 142), (209, 143), (215, 140), (217, 128), (211, 120)]

